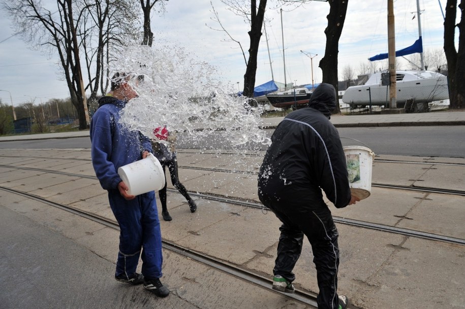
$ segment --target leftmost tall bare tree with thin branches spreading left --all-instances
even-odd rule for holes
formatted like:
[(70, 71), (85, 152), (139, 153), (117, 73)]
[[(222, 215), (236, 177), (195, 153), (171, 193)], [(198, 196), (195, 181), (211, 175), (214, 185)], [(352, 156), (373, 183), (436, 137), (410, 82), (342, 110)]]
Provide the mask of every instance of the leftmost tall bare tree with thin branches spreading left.
[(13, 18), (16, 30), (33, 48), (47, 48), (57, 52), (59, 64), (68, 85), (70, 97), (79, 118), (79, 129), (87, 128), (85, 93), (81, 87), (82, 75), (77, 50), (72, 0), (57, 0), (57, 10), (51, 12), (37, 0), (4, 1), (4, 7)]

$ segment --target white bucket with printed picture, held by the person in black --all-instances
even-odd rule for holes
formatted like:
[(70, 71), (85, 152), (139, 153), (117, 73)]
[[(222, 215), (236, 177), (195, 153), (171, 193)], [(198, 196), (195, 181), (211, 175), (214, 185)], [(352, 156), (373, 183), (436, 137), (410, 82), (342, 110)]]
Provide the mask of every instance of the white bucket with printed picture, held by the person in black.
[(363, 146), (346, 146), (347, 171), (349, 173), (349, 186), (352, 195), (360, 199), (371, 194), (371, 169), (375, 153)]

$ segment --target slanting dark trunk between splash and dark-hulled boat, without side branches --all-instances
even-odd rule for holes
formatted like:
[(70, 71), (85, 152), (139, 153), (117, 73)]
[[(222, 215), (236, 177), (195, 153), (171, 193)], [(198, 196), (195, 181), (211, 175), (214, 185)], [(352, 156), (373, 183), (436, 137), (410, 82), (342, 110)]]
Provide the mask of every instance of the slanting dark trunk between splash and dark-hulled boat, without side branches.
[(249, 48), (249, 61), (247, 61), (247, 68), (244, 74), (244, 91), (243, 95), (246, 97), (254, 97), (255, 88), (255, 75), (257, 73), (257, 54), (262, 36), (263, 18), (265, 16), (267, 0), (260, 0), (257, 12), (257, 2), (251, 1), (251, 30), (249, 31), (250, 48)]

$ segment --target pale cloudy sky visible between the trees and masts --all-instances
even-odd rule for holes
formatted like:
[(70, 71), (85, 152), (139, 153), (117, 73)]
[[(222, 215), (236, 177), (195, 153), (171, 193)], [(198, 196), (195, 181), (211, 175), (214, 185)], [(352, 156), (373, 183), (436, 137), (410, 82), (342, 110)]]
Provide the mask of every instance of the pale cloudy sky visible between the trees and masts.
[[(55, 8), (53, 0), (47, 6)], [(212, 0), (224, 27), (231, 36), (239, 41), (248, 58), (249, 25), (239, 16), (226, 10), (220, 0)], [(439, 0), (445, 6), (446, 0)], [(439, 50), (443, 46), (443, 16), (437, 0), (420, 0), (421, 27), (423, 33), (423, 49)], [(269, 37), (269, 51), (274, 80), (284, 82), (283, 44), (281, 31), (281, 15), (274, 9), (272, 0), (268, 0), (265, 13), (266, 31)], [(350, 0), (342, 36), (339, 40), (338, 70), (341, 79), (342, 70), (351, 65), (356, 74), (361, 63), (368, 63), (370, 56), (387, 52), (387, 1)], [(166, 5), (167, 12), (163, 16), (152, 16), (154, 42), (172, 42), (195, 53), (199, 58), (218, 67), (225, 81), (238, 86), (242, 91), (245, 62), (237, 43), (224, 42), (228, 39), (221, 31), (214, 31), (208, 26), (219, 28), (211, 18), (210, 0), (180, 1), (170, 0)], [(418, 21), (412, 19), (416, 15), (416, 0), (396, 0), (394, 2), (396, 49), (412, 45), (418, 39)], [(311, 2), (292, 10), (283, 7), (283, 28), (286, 59), (286, 81), (300, 84), (311, 84), (311, 60), (304, 53), (311, 52), (313, 58), (314, 81), (321, 82), (322, 74), (318, 67), (324, 55), (327, 26), (326, 16), (329, 4)], [(458, 16), (459, 17), (459, 16)], [(457, 18), (458, 22), (458, 18)], [(207, 25), (208, 26), (207, 26)], [(60, 80), (59, 68), (55, 65), (57, 56), (48, 59), (40, 51), (32, 51), (17, 37), (8, 39), (13, 34), (11, 20), (0, 10), (0, 89), (11, 92), (15, 106), (35, 100), (47, 101), (50, 98), (66, 98), (69, 96), (66, 82)], [(457, 31), (458, 32), (458, 31)], [(264, 32), (263, 32), (264, 33)], [(154, 43), (156, 44), (156, 43)], [(458, 44), (458, 43), (456, 43)], [(315, 54), (318, 54), (315, 56)], [(400, 58), (397, 58), (398, 60)], [(402, 60), (404, 61), (404, 60)], [(405, 62), (407, 63), (407, 62)], [(383, 62), (378, 61), (378, 68)], [(384, 62), (386, 67), (386, 62)], [(407, 65), (405, 68), (408, 68)], [(258, 55), (256, 85), (271, 80), (270, 61), (263, 34)], [(237, 82), (239, 84), (237, 85)], [(0, 98), (10, 104), (10, 95), (0, 91)]]

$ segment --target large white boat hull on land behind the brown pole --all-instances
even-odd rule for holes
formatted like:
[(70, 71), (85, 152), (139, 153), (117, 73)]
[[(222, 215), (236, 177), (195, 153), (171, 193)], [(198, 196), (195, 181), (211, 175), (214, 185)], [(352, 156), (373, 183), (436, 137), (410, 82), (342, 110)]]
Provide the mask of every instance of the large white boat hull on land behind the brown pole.
[[(396, 90), (396, 103), (401, 105), (412, 99), (415, 102), (432, 102), (449, 98), (446, 76), (396, 82)], [(389, 87), (379, 84), (351, 86), (345, 91), (342, 100), (351, 107), (386, 106), (389, 102)]]

